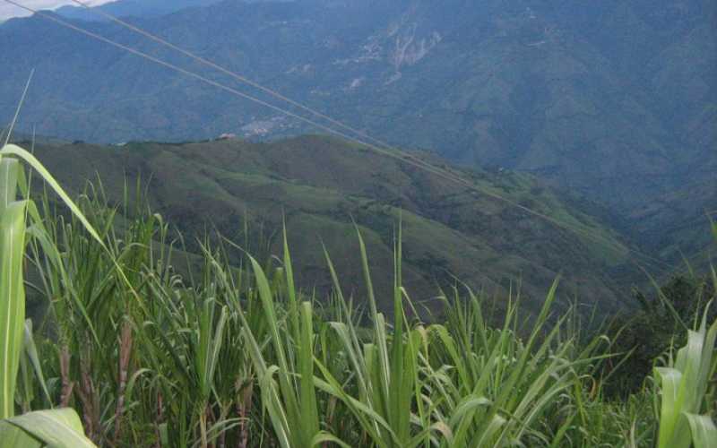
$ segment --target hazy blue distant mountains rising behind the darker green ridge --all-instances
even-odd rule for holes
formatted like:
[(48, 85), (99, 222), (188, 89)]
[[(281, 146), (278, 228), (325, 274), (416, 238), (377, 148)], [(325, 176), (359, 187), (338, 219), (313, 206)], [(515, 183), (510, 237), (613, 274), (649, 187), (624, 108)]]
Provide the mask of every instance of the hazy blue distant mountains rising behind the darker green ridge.
[[(122, 0), (103, 7), (393, 144), (469, 167), (523, 171), (583, 195), (610, 210), (605, 217), (586, 206), (600, 222), (652, 254), (704, 254), (710, 241), (705, 213), (717, 210), (712, 0), (158, 0), (140, 8)], [(89, 22), (87, 11), (59, 13), (276, 103), (117, 24)], [(38, 134), (88, 142), (314, 132), (40, 17), (2, 25), (0, 50), (0, 119), (10, 119), (36, 69), (22, 113), (26, 131), (36, 126)]]

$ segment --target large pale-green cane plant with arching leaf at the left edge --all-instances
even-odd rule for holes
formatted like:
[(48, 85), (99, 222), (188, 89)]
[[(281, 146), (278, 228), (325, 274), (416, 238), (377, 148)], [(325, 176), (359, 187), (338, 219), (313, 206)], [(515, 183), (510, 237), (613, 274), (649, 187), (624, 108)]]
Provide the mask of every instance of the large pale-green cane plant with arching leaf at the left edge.
[(27, 349), (32, 347), (32, 334), (25, 320), (25, 249), (31, 238), (37, 238), (50, 258), (58, 258), (56, 248), (46, 244), (42, 220), (29, 199), (28, 177), (22, 162), (44, 179), (101, 244), (90, 223), (38, 159), (19, 146), (5, 144), (0, 150), (0, 447), (90, 447), (94, 444), (84, 435), (73, 409), (46, 409), (15, 416), (17, 379), (23, 357), (32, 358), (30, 364), (35, 375), (42, 379), (37, 354), (33, 356), (32, 350)]

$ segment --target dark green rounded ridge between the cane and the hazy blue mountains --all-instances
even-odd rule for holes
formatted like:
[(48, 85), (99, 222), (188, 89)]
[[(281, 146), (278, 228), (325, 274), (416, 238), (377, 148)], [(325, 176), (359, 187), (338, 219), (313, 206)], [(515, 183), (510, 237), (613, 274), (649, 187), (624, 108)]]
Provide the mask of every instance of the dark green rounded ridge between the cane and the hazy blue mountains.
[[(577, 237), (398, 159), (326, 137), (124, 146), (39, 142), (35, 153), (74, 192), (99, 176), (107, 194), (118, 200), (125, 176), (129, 185), (142, 178), (153, 210), (190, 242), (208, 226), (242, 242), (248, 216), (249, 228), (263, 229), (263, 238), (256, 230), (250, 240), (265, 240), (267, 254), (279, 254), (277, 230), (285, 219), (306, 289), (330, 287), (323, 243), (346, 279), (346, 292), (360, 291), (352, 220), (366, 239), (376, 272), (393, 270), (394, 229), (402, 221), (406, 285), (411, 297), (428, 300), (428, 306), (436, 286), (450, 287), (453, 276), (488, 293), (519, 288), (527, 305), (540, 306), (562, 273), (564, 306), (575, 294), (609, 312), (631, 304), (628, 285), (637, 278), (626, 264), (626, 246), (613, 231), (524, 174), (449, 168), (482, 191), (505, 195), (592, 237)], [(447, 167), (435, 156), (418, 154)], [(390, 290), (391, 276), (376, 273), (374, 280), (379, 292)], [(385, 304), (390, 303), (389, 298)]]

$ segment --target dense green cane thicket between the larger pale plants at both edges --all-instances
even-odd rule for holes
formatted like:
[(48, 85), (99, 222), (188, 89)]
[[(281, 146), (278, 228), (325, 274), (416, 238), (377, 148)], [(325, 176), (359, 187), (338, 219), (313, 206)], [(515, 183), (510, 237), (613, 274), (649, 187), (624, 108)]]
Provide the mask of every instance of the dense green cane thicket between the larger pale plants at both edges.
[[(402, 287), (399, 234), (386, 318), (361, 233), (367, 314), (343, 296), (328, 252), (333, 297), (322, 304), (298, 290), (286, 234), (281, 260), (266, 263), (232, 257), (233, 244), (203, 243), (201, 275), (186, 278), (171, 267), (176, 249), (159, 217), (138, 209), (121, 224), (101, 201), (82, 208), (136, 287), (126, 289), (117, 265), (95, 255), (101, 247), (79, 222), (59, 226), (52, 234), (63, 268), (42, 271), (41, 283), (56, 297), (48, 319), (62, 335), (59, 351), (70, 356), (65, 368), (56, 355), (42, 364), (50, 378), (78, 388), (65, 399), (100, 444), (594, 446), (634, 437), (635, 446), (648, 446), (656, 439), (649, 391), (610, 403), (591, 383), (613, 359), (610, 344), (584, 342), (567, 324), (573, 314), (549, 317), (557, 283), (530, 330), (519, 297), (508, 297), (505, 320), (494, 327), (485, 297), (459, 289), (450, 300), (442, 294), (445, 322), (423, 322)], [(36, 265), (52, 266), (42, 251), (36, 256)], [(72, 263), (80, 259), (90, 263)], [(73, 283), (85, 286), (65, 287)], [(72, 324), (85, 321), (88, 332)], [(56, 347), (45, 340), (40, 352)]]

